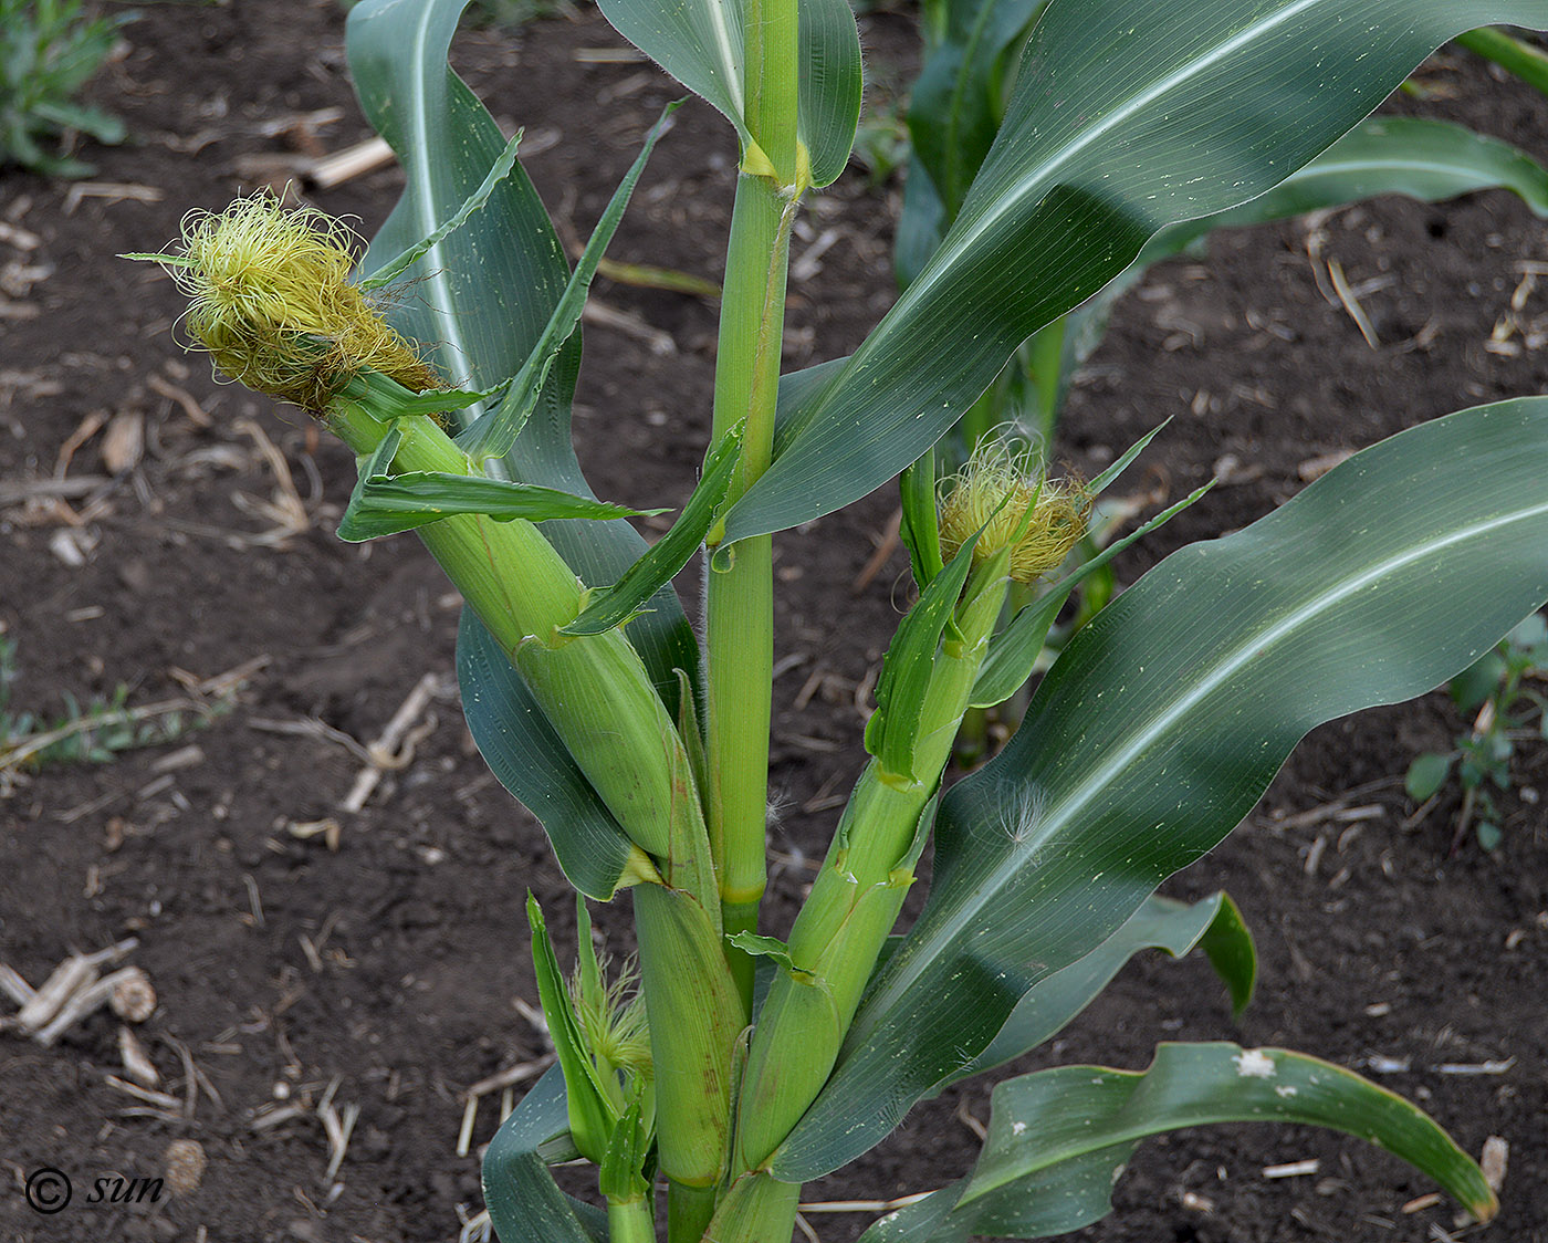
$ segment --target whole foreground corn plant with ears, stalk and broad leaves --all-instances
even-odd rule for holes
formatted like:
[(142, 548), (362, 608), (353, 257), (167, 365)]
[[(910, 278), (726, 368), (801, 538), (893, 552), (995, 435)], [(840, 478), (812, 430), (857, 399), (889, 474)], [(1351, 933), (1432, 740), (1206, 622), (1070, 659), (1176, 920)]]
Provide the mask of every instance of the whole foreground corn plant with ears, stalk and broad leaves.
[[(559, 1065), (489, 1145), (495, 1231), (655, 1238), (664, 1187), (669, 1243), (785, 1240), (803, 1183), (1046, 1040), (1139, 949), (1203, 947), (1245, 1003), (1235, 907), (1158, 884), (1231, 831), (1308, 729), (1433, 687), (1548, 599), (1548, 404), (1464, 410), (1163, 562), (1065, 647), (1009, 746), (943, 788), (963, 714), (1026, 680), (1099, 562), (1005, 619), (1009, 584), (1059, 574), (1144, 443), (1088, 483), (995, 446), (940, 483), (932, 446), (1156, 234), (1272, 192), (1447, 37), (1548, 25), (1548, 0), (1053, 0), (896, 305), (853, 356), (783, 376), (791, 226), (854, 138), (850, 8), (601, 0), (741, 153), (703, 474), (649, 548), (621, 520), (635, 511), (580, 475), (570, 401), (587, 285), (663, 127), (571, 271), (517, 144), (447, 67), (463, 3), (350, 14), (361, 104), (407, 175), (353, 272), (336, 224), (268, 198), (192, 217), (156, 259), (220, 370), (359, 455), (341, 536), (415, 529), (461, 590), (469, 728), (580, 895), (568, 981), (529, 902)], [(412, 297), (382, 297), (406, 279)], [(771, 539), (895, 477), (918, 599), (876, 686), (870, 758), (776, 938), (759, 923)], [(703, 644), (670, 587), (700, 550)], [(932, 837), (929, 901), (898, 933)], [(584, 906), (625, 890), (638, 994), (594, 954)], [(1495, 1210), (1438, 1124), (1307, 1054), (1172, 1043), (1147, 1070), (1039, 1071), (992, 1099), (974, 1170), (867, 1243), (1076, 1229), (1108, 1210), (1144, 1136), (1212, 1121), (1351, 1132), (1480, 1220)], [(605, 1209), (550, 1176), (577, 1156)]]

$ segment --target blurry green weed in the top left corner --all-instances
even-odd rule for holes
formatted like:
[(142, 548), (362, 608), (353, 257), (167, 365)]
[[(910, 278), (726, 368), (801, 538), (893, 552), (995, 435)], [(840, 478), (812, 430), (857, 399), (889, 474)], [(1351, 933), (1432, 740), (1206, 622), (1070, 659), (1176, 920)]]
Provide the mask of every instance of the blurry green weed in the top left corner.
[(80, 0), (0, 0), (0, 167), (20, 164), (46, 176), (93, 172), (51, 152), (70, 132), (122, 142), (124, 122), (73, 96), (102, 68), (118, 28), (135, 14), (85, 19)]

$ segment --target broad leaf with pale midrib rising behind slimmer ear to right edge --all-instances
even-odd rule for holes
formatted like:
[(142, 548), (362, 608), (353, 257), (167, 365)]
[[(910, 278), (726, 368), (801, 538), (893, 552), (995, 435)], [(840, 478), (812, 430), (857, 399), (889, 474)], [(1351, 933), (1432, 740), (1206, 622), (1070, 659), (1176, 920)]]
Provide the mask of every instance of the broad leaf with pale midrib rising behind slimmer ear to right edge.
[(1423, 424), (1098, 613), (1009, 746), (943, 799), (924, 913), (774, 1173), (881, 1139), (1220, 842), (1313, 726), (1437, 686), (1548, 599), (1545, 461), (1548, 398)]

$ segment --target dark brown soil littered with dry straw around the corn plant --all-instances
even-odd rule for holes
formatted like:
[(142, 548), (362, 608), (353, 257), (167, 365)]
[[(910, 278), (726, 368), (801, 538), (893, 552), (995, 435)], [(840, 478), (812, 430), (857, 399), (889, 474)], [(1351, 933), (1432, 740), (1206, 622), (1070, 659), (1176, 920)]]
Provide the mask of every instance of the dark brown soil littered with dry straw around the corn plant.
[[(147, 1102), (107, 1079), (121, 1060), (105, 1011), (48, 1048), (0, 1034), (8, 1240), (454, 1238), (458, 1214), (480, 1207), (477, 1149), (498, 1115), (498, 1093), (485, 1097), (472, 1152), (458, 1156), (464, 1093), (545, 1051), (525, 1017), (536, 994), (520, 902), (533, 889), (560, 940), (573, 913), (540, 830), (488, 776), (455, 697), (438, 689), (412, 758), (362, 811), (341, 810), (361, 762), (337, 738), (376, 738), (424, 673), (450, 673), (455, 598), (412, 539), (339, 543), (348, 454), (319, 444), (293, 412), (212, 384), (173, 339), (170, 285), (113, 259), (158, 248), (189, 207), (223, 206), (238, 187), (283, 181), (314, 147), (365, 136), (342, 20), (334, 0), (147, 6), (94, 87), (133, 144), (90, 152), (90, 186), (0, 175), (0, 630), (20, 666), (12, 706), (62, 715), (67, 695), (119, 684), (130, 704), (224, 703), (200, 728), (184, 714), (175, 740), (43, 768), (0, 800), (0, 960), (36, 984), (71, 950), (138, 937), (128, 960), (159, 995), (139, 1034), (173, 1097)], [(907, 20), (878, 12), (864, 29), (873, 74), (898, 76), (913, 56)], [(458, 46), (495, 116), (528, 127), (529, 152), (543, 147), (528, 167), (571, 235), (590, 229), (673, 96), (647, 65), (577, 59), (619, 46), (594, 15)], [(1455, 98), (1424, 107), (1548, 158), (1540, 98), (1460, 54), (1429, 76)], [(684, 108), (613, 255), (715, 279), (732, 156), (718, 118)], [(382, 170), (314, 201), (368, 232), (396, 186)], [(870, 192), (859, 176), (814, 204), (796, 259), (822, 254), (793, 286), (788, 367), (851, 350), (885, 308), (895, 207), (895, 186)], [(1302, 486), (1310, 460), (1548, 379), (1540, 293), (1519, 310), (1520, 330), (1491, 345), (1523, 262), (1545, 259), (1540, 223), (1514, 198), (1384, 200), (1316, 228), (1324, 257), (1362, 289), (1378, 348), (1319, 291), (1311, 226), (1299, 221), (1220, 237), (1207, 259), (1152, 272), (1082, 373), (1060, 446), (1076, 464), (1099, 469), (1167, 416), (1146, 461), (1173, 495), (1223, 455), (1237, 460), (1235, 483), (1124, 556), (1124, 580), (1266, 512)], [(608, 282), (596, 296), (636, 325), (588, 328), (582, 458), (605, 497), (678, 503), (704, 444), (714, 306)], [(111, 423), (93, 432), (99, 416)], [(136, 429), (138, 455), (122, 440)], [(68, 491), (51, 492), (60, 478)], [(779, 542), (776, 930), (859, 766), (858, 689), (896, 622), (904, 559), (850, 584), (892, 506), (882, 492)], [(231, 670), (234, 689), (211, 684)], [(288, 732), (316, 721), (327, 737)], [(1466, 842), (1454, 854), (1455, 796), (1415, 814), (1401, 774), (1461, 728), (1435, 695), (1317, 731), (1241, 830), (1170, 884), (1228, 889), (1259, 938), (1263, 983), (1240, 1026), (1204, 966), (1146, 960), (1037, 1063), (1141, 1067), (1159, 1039), (1224, 1037), (1364, 1068), (1471, 1152), (1506, 1138), (1505, 1207), (1478, 1237), (1548, 1240), (1537, 794), (1548, 755), (1520, 757), (1500, 850)], [(336, 848), (303, 836), (330, 817)], [(596, 918), (627, 946), (627, 910)], [(341, 1115), (359, 1110), (333, 1180), (325, 1097)], [(276, 1113), (293, 1105), (288, 1119)], [(972, 1119), (986, 1113), (986, 1085), (924, 1105), (808, 1197), (938, 1186), (971, 1163)], [(161, 1175), (173, 1139), (203, 1145), (197, 1189), (159, 1204), (85, 1203), (99, 1176)], [(1263, 1173), (1311, 1158), (1314, 1175)], [(45, 1166), (76, 1183), (76, 1201), (53, 1217), (22, 1197)], [(1118, 1212), (1079, 1237), (1450, 1237), (1454, 1209), (1427, 1206), (1429, 1190), (1341, 1136), (1187, 1133), (1147, 1144), (1118, 1186)], [(827, 1240), (865, 1221), (810, 1220)]]

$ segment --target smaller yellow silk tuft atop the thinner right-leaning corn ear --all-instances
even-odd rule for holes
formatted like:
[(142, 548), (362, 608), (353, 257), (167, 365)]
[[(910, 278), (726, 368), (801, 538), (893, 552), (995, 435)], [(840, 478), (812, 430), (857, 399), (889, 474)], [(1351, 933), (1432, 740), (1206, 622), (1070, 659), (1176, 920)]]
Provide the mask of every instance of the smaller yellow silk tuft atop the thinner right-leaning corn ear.
[(1012, 444), (980, 447), (947, 481), (941, 503), (941, 556), (950, 560), (983, 528), (974, 562), (1011, 550), (1011, 577), (1034, 584), (1051, 574), (1087, 532), (1094, 497), (1077, 478), (1048, 478)]

